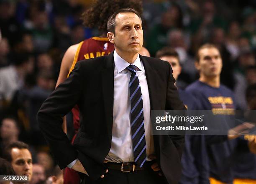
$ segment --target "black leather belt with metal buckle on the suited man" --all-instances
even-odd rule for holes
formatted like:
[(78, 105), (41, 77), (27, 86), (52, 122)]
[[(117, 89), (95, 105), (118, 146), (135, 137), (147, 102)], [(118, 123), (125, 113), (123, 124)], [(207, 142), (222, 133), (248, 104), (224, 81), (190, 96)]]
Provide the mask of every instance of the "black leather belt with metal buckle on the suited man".
[(118, 170), (118, 171), (123, 171), (123, 172), (134, 172), (134, 171), (141, 171), (144, 169), (149, 169), (151, 166), (151, 161), (146, 161), (143, 164), (143, 167), (140, 168), (138, 165), (136, 165), (136, 163), (132, 162), (132, 163), (113, 163), (113, 162), (108, 162), (106, 163), (106, 167), (108, 169), (112, 169), (112, 170)]

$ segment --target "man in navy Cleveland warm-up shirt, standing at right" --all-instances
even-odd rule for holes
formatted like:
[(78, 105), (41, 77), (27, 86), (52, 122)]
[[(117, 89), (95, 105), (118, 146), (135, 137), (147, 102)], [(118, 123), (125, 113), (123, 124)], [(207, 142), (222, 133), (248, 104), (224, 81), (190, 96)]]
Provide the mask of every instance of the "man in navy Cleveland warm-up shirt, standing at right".
[[(195, 96), (200, 109), (212, 110), (215, 115), (234, 115), (236, 104), (233, 92), (220, 84), (222, 59), (217, 47), (212, 44), (201, 46), (197, 51), (195, 66), (199, 71), (200, 78), (190, 84), (186, 91)], [(239, 148), (243, 151), (248, 151), (247, 144), (239, 138), (228, 140), (228, 136), (206, 135), (203, 137), (207, 142), (205, 145), (207, 151), (203, 157), (207, 157), (205, 159), (209, 161), (210, 183), (233, 183), (234, 173), (231, 167), (234, 163), (234, 151), (237, 146), (240, 146)], [(214, 139), (215, 144), (212, 144), (211, 140)], [(255, 146), (255, 143), (251, 146)], [(202, 169), (207, 169), (207, 167)]]

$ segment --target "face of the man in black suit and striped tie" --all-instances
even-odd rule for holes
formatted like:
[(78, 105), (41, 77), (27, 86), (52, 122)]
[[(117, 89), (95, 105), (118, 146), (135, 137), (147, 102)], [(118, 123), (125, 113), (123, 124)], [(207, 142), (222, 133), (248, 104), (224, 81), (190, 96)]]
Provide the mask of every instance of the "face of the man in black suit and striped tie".
[(135, 13), (126, 12), (118, 13), (115, 22), (115, 34), (109, 32), (108, 38), (115, 44), (117, 53), (137, 54), (143, 45), (141, 19)]

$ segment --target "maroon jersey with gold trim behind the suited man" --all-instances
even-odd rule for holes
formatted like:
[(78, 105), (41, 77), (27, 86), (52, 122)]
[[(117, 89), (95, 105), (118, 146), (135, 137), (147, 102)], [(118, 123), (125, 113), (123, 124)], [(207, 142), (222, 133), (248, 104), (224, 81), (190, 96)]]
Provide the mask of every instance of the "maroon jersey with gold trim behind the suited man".
[[(74, 56), (74, 61), (69, 71), (72, 72), (77, 61), (90, 59), (99, 56), (105, 56), (114, 51), (114, 44), (110, 43), (108, 38), (92, 37), (79, 43), (78, 49)], [(68, 76), (69, 76), (68, 74)], [(76, 105), (72, 109), (73, 114), (73, 125), (75, 133), (77, 133), (80, 122), (79, 122), (79, 109)]]

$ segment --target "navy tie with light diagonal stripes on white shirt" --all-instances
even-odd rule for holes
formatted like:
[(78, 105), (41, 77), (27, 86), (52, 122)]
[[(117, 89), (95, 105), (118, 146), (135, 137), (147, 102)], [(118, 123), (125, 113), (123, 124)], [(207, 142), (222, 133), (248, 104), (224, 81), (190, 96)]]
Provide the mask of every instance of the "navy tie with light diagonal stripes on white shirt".
[(133, 158), (142, 167), (146, 161), (146, 138), (144, 130), (143, 103), (141, 87), (136, 74), (137, 67), (130, 65), (127, 69), (132, 73), (129, 82), (131, 100), (131, 133), (133, 140)]

